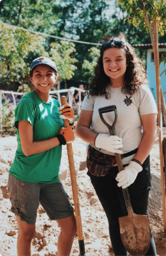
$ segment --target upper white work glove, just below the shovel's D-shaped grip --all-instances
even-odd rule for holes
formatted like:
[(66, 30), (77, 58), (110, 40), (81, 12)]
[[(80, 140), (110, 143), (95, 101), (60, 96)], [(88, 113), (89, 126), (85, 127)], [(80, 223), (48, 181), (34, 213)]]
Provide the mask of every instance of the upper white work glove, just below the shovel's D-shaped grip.
[(118, 150), (119, 148), (123, 147), (122, 138), (117, 137), (116, 135), (99, 133), (95, 138), (95, 147), (107, 150), (109, 152), (119, 154), (123, 153), (122, 150)]

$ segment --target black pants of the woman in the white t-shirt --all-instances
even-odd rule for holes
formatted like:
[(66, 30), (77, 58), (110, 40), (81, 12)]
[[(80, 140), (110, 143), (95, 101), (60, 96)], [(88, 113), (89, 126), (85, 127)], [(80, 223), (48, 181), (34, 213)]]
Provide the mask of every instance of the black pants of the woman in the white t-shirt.
[[(127, 255), (127, 251), (120, 238), (118, 217), (128, 214), (122, 189), (117, 186), (117, 181), (115, 180), (117, 173), (117, 167), (112, 167), (107, 176), (93, 176), (89, 171), (87, 174), (90, 176), (96, 194), (107, 216), (114, 254), (125, 256)], [(143, 164), (143, 171), (138, 174), (134, 183), (128, 187), (132, 208), (135, 214), (147, 215), (148, 196), (149, 190), (151, 189), (150, 179), (150, 163), (149, 157), (147, 157)], [(152, 234), (149, 250), (146, 255), (156, 255), (156, 246)]]

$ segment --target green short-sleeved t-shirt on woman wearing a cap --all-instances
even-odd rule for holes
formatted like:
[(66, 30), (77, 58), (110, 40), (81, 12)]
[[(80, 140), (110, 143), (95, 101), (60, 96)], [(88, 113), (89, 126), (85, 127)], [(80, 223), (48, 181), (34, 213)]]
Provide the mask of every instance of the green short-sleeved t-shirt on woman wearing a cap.
[(51, 98), (46, 103), (36, 94), (24, 95), (15, 109), (15, 127), (17, 128), (17, 151), (9, 172), (17, 179), (30, 183), (53, 183), (59, 180), (59, 165), (62, 146), (56, 146), (39, 154), (26, 157), (22, 152), (18, 121), (29, 121), (33, 126), (33, 141), (56, 137), (63, 127), (59, 117), (59, 101)]

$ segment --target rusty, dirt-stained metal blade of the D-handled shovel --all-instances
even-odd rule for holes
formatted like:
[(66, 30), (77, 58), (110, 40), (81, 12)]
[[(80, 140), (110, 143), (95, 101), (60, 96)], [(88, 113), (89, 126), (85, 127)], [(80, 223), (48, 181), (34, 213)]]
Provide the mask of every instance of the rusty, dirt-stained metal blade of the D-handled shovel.
[(119, 218), (120, 236), (125, 249), (133, 256), (143, 256), (149, 249), (150, 230), (146, 215), (132, 214)]

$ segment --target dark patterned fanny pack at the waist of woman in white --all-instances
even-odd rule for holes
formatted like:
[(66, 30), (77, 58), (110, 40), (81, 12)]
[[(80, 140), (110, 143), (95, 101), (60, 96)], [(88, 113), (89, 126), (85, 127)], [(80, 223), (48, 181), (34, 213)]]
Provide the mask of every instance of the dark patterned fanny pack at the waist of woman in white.
[(90, 174), (106, 176), (115, 162), (115, 156), (103, 154), (90, 145), (88, 146), (87, 167)]

